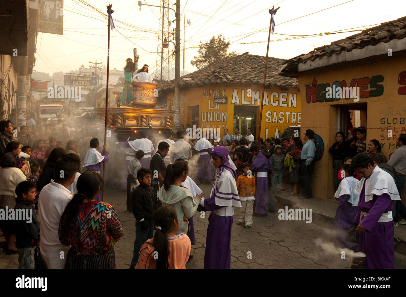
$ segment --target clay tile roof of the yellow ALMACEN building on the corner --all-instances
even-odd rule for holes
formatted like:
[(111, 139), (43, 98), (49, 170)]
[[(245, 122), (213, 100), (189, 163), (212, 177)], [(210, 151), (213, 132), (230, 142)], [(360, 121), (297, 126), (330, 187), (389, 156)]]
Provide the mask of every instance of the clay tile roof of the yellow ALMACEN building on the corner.
[[(268, 57), (265, 87), (273, 86), (297, 88), (298, 81), (295, 78), (278, 75), (279, 69), (285, 59)], [(263, 84), (263, 69), (265, 68), (265, 56), (250, 55), (248, 52), (242, 55), (222, 61), (216, 65), (189, 73), (180, 78), (179, 88), (201, 87), (203, 85), (220, 85), (231, 83)], [(158, 81), (158, 91), (173, 90), (174, 80)]]

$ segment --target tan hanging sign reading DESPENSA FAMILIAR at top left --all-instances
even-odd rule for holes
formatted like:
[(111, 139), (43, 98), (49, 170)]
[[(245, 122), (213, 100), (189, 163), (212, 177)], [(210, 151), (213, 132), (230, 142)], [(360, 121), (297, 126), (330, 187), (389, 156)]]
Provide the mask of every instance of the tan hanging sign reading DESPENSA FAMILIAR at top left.
[(38, 7), (38, 32), (63, 35), (63, 0), (42, 0)]

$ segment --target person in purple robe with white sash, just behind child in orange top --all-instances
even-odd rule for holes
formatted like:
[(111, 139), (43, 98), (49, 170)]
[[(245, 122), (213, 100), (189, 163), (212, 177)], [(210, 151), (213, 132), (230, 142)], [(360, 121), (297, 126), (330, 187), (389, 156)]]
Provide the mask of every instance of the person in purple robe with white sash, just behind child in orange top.
[[(271, 154), (267, 150), (261, 150), (260, 152), (257, 152), (257, 150), (257, 145), (251, 145), (251, 154), (257, 156), (251, 167), (253, 173), (257, 171), (254, 212), (256, 216), (266, 216), (268, 214), (268, 196), (270, 195), (268, 190), (268, 171), (272, 165), (269, 159)], [(272, 202), (272, 197), (269, 200), (270, 211), (274, 211), (276, 207)]]

